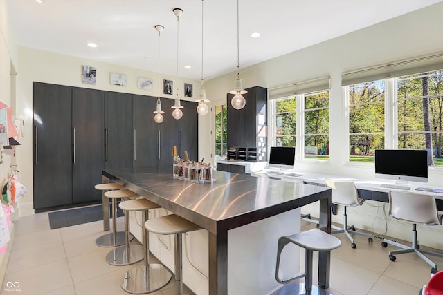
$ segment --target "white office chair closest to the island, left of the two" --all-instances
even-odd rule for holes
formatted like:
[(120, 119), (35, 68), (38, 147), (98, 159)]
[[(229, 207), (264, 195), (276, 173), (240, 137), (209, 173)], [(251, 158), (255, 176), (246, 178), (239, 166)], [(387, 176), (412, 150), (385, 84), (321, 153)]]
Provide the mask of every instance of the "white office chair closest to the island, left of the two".
[[(336, 229), (335, 231), (331, 231), (331, 234), (344, 233), (351, 241), (351, 247), (354, 249), (357, 247), (357, 245), (355, 244), (354, 238), (352, 238), (351, 234), (367, 236), (368, 241), (372, 242), (372, 234), (356, 231), (354, 225), (347, 225), (347, 207), (361, 206), (363, 202), (365, 202), (365, 200), (359, 198), (359, 192), (357, 191), (354, 182), (326, 179), (325, 184), (327, 187), (332, 189), (332, 204), (342, 205), (345, 207), (345, 213), (343, 214), (343, 228), (331, 225), (332, 229)], [(352, 231), (349, 231), (350, 229)]]

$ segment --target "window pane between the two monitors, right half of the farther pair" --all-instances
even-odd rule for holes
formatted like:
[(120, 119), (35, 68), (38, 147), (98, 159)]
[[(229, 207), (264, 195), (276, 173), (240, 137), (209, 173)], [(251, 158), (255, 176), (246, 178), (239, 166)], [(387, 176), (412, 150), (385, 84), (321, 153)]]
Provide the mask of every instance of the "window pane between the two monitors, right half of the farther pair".
[(305, 159), (329, 160), (329, 91), (303, 95)]

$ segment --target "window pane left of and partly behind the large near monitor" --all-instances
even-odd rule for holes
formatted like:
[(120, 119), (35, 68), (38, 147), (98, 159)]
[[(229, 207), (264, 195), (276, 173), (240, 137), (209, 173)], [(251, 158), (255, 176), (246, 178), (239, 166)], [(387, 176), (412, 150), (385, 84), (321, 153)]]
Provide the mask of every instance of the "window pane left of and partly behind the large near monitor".
[(351, 162), (374, 162), (375, 149), (384, 149), (385, 82), (349, 86)]

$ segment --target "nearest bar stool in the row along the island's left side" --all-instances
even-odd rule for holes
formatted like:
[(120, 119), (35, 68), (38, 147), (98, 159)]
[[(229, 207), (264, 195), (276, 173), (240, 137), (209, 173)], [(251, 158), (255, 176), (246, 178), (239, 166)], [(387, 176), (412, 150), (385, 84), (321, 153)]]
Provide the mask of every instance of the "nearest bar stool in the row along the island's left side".
[(181, 234), (189, 231), (201, 229), (195, 223), (190, 222), (178, 215), (171, 214), (152, 218), (145, 222), (145, 228), (154, 234), (170, 235), (175, 234), (175, 286), (176, 295), (183, 294), (183, 254), (182, 254), (182, 236)]

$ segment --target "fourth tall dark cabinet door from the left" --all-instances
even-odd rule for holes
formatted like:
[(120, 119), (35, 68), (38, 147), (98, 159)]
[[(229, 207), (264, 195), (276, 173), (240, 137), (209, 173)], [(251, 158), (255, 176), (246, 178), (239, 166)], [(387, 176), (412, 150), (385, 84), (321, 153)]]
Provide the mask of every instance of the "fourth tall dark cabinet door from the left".
[(133, 95), (132, 128), (134, 129), (134, 167), (157, 166), (159, 147), (154, 121), (156, 97)]

